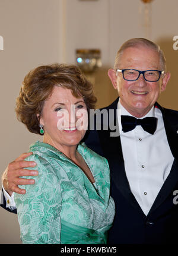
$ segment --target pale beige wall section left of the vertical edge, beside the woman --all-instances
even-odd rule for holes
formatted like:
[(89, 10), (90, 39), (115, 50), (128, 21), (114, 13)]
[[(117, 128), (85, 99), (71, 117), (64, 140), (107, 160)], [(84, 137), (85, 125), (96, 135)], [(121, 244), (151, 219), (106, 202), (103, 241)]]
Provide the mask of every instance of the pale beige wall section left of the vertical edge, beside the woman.
[[(60, 61), (59, 4), (59, 0), (0, 0), (0, 34), (4, 37), (0, 51), (1, 173), (38, 140), (16, 120), (15, 98), (30, 69)], [(0, 244), (20, 243), (16, 214), (0, 208), (0, 216)]]

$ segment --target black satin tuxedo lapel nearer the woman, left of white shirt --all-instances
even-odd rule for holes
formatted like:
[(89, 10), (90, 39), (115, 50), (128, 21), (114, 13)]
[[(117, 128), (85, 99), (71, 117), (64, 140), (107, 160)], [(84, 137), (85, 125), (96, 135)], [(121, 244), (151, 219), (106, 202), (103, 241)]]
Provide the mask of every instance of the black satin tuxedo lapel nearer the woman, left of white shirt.
[[(106, 157), (109, 162), (112, 182), (115, 183), (116, 188), (119, 189), (126, 200), (128, 200), (133, 207), (144, 214), (129, 187), (129, 182), (125, 172), (120, 136), (111, 136), (111, 134), (113, 134), (113, 130), (110, 128), (113, 127), (113, 124), (115, 127), (118, 127), (116, 108), (117, 104), (114, 108), (114, 118), (109, 118), (109, 127), (107, 127), (106, 130), (101, 129), (101, 131), (98, 131), (100, 144), (104, 152), (104, 157)], [(109, 112), (109, 114), (110, 113), (111, 112)]]

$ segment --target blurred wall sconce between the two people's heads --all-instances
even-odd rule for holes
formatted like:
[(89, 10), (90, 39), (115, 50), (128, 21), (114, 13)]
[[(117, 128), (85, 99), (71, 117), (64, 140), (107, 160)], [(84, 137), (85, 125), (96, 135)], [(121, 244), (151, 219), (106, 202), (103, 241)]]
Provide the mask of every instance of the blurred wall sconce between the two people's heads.
[(77, 65), (85, 73), (94, 72), (102, 66), (99, 49), (77, 49), (75, 53)]

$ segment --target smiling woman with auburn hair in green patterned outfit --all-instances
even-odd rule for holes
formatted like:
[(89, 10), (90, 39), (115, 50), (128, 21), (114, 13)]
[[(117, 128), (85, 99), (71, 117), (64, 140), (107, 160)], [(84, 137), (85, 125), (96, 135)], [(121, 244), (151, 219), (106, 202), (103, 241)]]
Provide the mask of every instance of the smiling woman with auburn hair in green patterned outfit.
[[(107, 160), (80, 141), (96, 97), (74, 65), (29, 72), (17, 98), (17, 118), (44, 135), (30, 146), (39, 175), (15, 194), (24, 244), (106, 244), (115, 205)], [(34, 169), (34, 168), (29, 168)]]

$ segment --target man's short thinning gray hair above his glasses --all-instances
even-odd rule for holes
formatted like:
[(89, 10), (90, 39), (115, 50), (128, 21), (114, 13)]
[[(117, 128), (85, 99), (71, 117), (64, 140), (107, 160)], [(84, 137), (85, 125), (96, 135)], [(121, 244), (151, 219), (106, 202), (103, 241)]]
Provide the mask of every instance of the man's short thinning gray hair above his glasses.
[(120, 57), (122, 56), (123, 50), (130, 47), (132, 48), (145, 47), (158, 52), (158, 54), (160, 55), (161, 69), (162, 71), (166, 72), (166, 58), (164, 56), (163, 50), (161, 50), (159, 45), (145, 38), (132, 38), (126, 41), (125, 43), (123, 43), (123, 45), (120, 47), (120, 49), (117, 52), (114, 69), (119, 68), (118, 65), (119, 65)]

